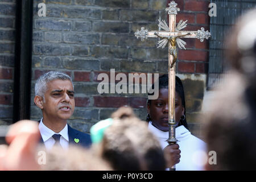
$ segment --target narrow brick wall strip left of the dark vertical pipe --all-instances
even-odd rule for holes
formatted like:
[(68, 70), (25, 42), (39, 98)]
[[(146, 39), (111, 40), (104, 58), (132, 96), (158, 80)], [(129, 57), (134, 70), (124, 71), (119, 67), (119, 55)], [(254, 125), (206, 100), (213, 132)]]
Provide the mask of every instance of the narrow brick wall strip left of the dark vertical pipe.
[(0, 125), (13, 119), (15, 0), (0, 1)]

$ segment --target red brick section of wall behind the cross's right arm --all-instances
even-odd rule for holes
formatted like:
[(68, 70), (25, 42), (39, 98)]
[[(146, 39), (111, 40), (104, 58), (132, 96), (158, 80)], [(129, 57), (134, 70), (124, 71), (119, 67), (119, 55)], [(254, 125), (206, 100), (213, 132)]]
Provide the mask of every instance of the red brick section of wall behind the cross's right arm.
[[(170, 1), (168, 1), (170, 2)], [(188, 26), (184, 30), (200, 30), (204, 27), (209, 30), (209, 1), (176, 0), (180, 11), (176, 22), (180, 19), (188, 20)], [(207, 73), (209, 61), (209, 42), (198, 39), (184, 39), (187, 50), (179, 50), (177, 71), (179, 73)]]

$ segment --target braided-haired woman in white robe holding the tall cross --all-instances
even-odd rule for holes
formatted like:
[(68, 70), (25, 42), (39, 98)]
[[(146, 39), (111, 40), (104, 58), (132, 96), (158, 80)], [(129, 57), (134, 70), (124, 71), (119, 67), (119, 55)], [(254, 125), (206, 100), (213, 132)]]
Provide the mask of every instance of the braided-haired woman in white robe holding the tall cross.
[[(147, 102), (148, 129), (159, 138), (159, 142), (167, 158), (167, 168), (176, 164), (176, 170), (203, 170), (205, 142), (193, 136), (185, 118), (185, 97), (183, 84), (176, 76), (175, 86), (175, 121), (176, 144), (168, 145), (168, 75), (159, 77), (159, 97)], [(154, 86), (154, 85), (152, 85)]]

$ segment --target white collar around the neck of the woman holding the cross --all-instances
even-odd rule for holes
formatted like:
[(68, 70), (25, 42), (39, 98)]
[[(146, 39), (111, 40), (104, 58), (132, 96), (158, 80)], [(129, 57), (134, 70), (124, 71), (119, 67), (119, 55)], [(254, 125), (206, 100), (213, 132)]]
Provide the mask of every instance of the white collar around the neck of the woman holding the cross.
[[(152, 125), (152, 122), (148, 122), (148, 129), (156, 135), (158, 138), (168, 139), (169, 138), (169, 132), (168, 131), (162, 131), (156, 128), (154, 125)], [(184, 137), (187, 137), (191, 133), (183, 126), (176, 127), (175, 129), (175, 136), (178, 140), (183, 139)]]

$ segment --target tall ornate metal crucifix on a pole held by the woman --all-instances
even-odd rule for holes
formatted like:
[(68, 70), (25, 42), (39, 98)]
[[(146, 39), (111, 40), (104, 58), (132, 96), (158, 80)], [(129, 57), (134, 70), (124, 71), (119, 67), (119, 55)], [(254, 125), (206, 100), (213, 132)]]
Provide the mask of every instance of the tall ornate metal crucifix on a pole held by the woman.
[[(180, 31), (181, 29), (187, 26), (187, 20), (180, 22), (176, 26), (176, 14), (177, 11), (180, 11), (177, 8), (177, 3), (174, 1), (170, 2), (169, 7), (166, 8), (169, 14), (169, 26), (167, 25), (165, 20), (158, 20), (158, 27), (162, 28), (164, 31), (147, 31), (144, 27), (141, 30), (137, 30), (134, 35), (138, 38), (141, 38), (142, 41), (147, 38), (160, 38), (158, 41), (158, 48), (166, 47), (168, 43), (168, 125), (169, 125), (169, 138), (167, 142), (169, 144), (174, 144), (178, 142), (175, 137), (175, 63), (177, 59), (177, 47), (180, 49), (184, 48), (186, 43), (180, 38), (197, 38), (200, 39), (201, 42), (210, 37), (210, 32), (204, 31), (202, 27), (201, 30), (197, 31)], [(173, 166), (170, 170), (175, 171), (175, 166)]]

